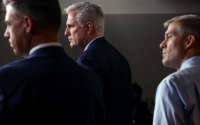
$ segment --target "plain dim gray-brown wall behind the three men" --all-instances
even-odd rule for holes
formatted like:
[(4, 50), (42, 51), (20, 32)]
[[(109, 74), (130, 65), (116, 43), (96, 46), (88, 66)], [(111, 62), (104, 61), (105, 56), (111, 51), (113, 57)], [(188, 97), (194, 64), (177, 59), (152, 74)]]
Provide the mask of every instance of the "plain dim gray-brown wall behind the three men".
[[(86, 0), (59, 0), (62, 10), (69, 4)], [(127, 59), (132, 70), (133, 83), (143, 89), (142, 99), (153, 110), (156, 87), (174, 70), (162, 66), (159, 44), (164, 38), (163, 22), (182, 14), (199, 14), (199, 0), (87, 0), (101, 5), (105, 13), (105, 37)], [(3, 37), (4, 15), (1, 14), (0, 66), (19, 59)], [(63, 12), (60, 42), (73, 59), (78, 49), (69, 48), (64, 36), (66, 15)], [(103, 51), (103, 50), (102, 50)], [(102, 55), (103, 56), (103, 55)]]

